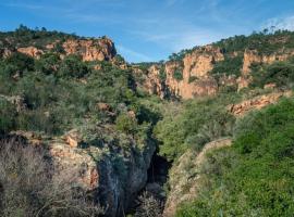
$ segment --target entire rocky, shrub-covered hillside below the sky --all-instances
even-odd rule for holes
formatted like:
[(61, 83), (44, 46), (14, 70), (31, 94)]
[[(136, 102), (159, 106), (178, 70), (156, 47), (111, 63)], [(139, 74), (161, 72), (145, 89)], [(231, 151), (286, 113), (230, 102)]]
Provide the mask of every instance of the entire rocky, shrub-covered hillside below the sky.
[(293, 55), (285, 30), (140, 64), (0, 33), (0, 215), (291, 216)]

